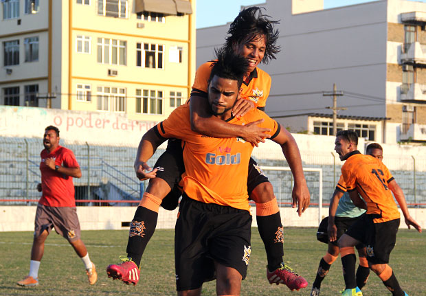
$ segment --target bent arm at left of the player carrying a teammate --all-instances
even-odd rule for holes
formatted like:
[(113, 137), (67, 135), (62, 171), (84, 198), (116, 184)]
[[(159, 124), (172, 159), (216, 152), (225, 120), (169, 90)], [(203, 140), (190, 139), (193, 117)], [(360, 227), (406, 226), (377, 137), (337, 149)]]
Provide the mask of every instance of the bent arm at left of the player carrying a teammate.
[(141, 181), (155, 178), (157, 169), (152, 170), (146, 161), (154, 155), (158, 146), (166, 141), (166, 139), (160, 139), (157, 136), (155, 128), (157, 128), (157, 126), (154, 126), (145, 133), (137, 148), (134, 168), (137, 179)]

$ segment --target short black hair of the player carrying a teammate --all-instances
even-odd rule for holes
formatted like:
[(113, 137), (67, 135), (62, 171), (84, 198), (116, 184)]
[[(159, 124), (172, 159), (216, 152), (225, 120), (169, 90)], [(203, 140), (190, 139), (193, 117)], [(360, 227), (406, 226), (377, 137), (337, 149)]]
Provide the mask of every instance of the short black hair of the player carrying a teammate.
[(223, 47), (221, 49), (214, 49), (214, 52), (216, 60), (212, 64), (209, 83), (214, 76), (218, 76), (220, 78), (237, 80), (239, 89), (241, 84), (243, 84), (245, 73), (247, 73), (249, 67), (247, 59)]

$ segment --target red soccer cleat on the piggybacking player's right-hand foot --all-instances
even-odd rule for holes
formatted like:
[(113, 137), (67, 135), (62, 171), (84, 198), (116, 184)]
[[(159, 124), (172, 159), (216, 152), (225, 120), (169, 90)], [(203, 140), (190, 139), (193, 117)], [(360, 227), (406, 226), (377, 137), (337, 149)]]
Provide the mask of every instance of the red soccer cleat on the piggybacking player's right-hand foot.
[(267, 268), (267, 279), (269, 284), (285, 284), (291, 291), (299, 291), (301, 288), (306, 288), (308, 282), (295, 273), (287, 264), (281, 263), (281, 267), (275, 271), (269, 272)]

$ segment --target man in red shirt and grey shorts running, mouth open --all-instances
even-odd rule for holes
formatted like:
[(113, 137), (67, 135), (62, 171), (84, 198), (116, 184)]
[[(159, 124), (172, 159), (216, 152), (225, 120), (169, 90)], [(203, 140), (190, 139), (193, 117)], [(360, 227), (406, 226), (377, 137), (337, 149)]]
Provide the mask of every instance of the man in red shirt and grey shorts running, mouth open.
[(76, 212), (74, 199), (74, 178), (81, 177), (80, 166), (74, 153), (59, 145), (59, 130), (56, 126), (47, 126), (43, 136), (41, 151), (41, 183), (37, 189), (43, 192), (36, 209), (34, 242), (31, 249), (30, 273), (21, 281), (19, 286), (37, 286), (38, 268), (45, 251), (45, 240), (52, 227), (68, 240), (77, 255), (81, 258), (89, 284), (98, 280), (95, 264), (91, 262), (86, 246), (80, 238), (80, 223)]

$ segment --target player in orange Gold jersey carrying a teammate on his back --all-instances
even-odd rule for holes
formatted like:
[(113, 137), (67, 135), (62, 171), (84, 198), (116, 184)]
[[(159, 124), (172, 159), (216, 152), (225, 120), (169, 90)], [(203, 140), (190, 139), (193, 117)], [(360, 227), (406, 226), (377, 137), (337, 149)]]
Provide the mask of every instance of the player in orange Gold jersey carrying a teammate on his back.
[[(300, 152), (291, 134), (258, 109), (241, 117), (232, 115), (247, 59), (224, 50), (217, 56), (208, 86), (210, 112), (231, 124), (260, 121), (260, 126), (269, 128), (271, 139), (282, 146), (295, 180), (303, 184), (304, 194), (309, 195)], [(201, 295), (203, 282), (215, 277), (218, 295), (240, 295), (251, 253), (247, 176), (254, 145), (239, 137), (206, 137), (192, 131), (190, 106), (186, 104), (142, 137), (135, 161), (139, 179), (147, 177), (144, 170), (150, 168), (146, 161), (170, 137), (183, 140), (186, 167), (175, 236), (178, 295)], [(148, 193), (141, 201), (154, 211), (160, 203), (159, 198)], [(289, 288), (298, 290), (300, 286)]]

